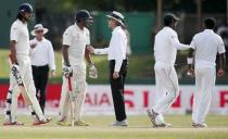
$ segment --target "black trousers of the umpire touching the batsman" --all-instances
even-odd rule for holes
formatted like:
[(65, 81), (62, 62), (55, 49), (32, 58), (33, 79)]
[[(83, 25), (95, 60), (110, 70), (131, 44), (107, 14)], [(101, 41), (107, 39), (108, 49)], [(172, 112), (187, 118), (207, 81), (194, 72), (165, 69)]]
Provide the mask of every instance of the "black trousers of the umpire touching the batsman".
[(116, 121), (121, 122), (126, 119), (125, 103), (124, 103), (124, 84), (127, 75), (127, 60), (123, 61), (119, 77), (113, 78), (115, 68), (115, 60), (110, 61), (110, 83), (113, 96), (113, 103), (115, 110)]

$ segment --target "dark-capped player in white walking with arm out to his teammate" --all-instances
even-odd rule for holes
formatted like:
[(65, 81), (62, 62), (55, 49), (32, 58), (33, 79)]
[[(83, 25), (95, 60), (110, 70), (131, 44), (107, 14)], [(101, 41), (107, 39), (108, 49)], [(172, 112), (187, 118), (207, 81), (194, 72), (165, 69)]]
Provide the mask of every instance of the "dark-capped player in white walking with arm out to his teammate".
[(154, 58), (155, 58), (155, 88), (156, 102), (152, 110), (148, 110), (148, 115), (154, 127), (170, 126), (165, 123), (163, 114), (170, 108), (179, 96), (179, 85), (174, 67), (177, 50), (187, 50), (190, 46), (179, 42), (177, 33), (174, 30), (177, 24), (174, 14), (164, 16), (164, 28), (155, 36)]

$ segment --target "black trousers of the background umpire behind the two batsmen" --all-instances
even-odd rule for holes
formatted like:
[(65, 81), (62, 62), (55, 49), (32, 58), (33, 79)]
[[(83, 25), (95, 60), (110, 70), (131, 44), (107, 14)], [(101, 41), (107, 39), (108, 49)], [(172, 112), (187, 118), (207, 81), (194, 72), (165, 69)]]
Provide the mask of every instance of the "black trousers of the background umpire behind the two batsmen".
[(47, 87), (48, 76), (49, 76), (49, 66), (48, 65), (43, 65), (43, 66), (31, 65), (31, 68), (33, 68), (34, 84), (36, 87), (36, 96), (39, 101), (42, 113), (45, 113), (46, 87)]

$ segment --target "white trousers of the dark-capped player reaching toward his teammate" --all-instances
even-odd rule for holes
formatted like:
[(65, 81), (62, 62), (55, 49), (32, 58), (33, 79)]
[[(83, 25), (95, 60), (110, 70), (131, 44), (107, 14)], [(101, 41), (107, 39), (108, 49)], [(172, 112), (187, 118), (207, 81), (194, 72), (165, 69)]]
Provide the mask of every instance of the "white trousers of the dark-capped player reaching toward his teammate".
[(163, 115), (179, 96), (179, 85), (174, 64), (156, 62), (155, 71), (155, 103), (153, 110)]

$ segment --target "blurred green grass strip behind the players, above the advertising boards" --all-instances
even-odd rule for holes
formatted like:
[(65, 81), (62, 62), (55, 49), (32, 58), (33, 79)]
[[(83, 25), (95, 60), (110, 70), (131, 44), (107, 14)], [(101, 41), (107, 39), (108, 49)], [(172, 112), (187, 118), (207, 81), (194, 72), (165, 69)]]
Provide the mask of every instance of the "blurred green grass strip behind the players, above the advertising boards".
[[(8, 55), (9, 50), (0, 49), (0, 79), (9, 78)], [(97, 79), (87, 78), (90, 84), (107, 84), (109, 83), (109, 63), (106, 55), (91, 55), (94, 62), (99, 77)], [(62, 81), (62, 54), (55, 51), (56, 77), (50, 78), (51, 83)], [(150, 79), (152, 76), (152, 55), (131, 55), (129, 58), (128, 80), (139, 81), (140, 79)]]

